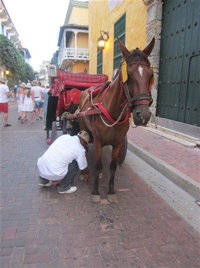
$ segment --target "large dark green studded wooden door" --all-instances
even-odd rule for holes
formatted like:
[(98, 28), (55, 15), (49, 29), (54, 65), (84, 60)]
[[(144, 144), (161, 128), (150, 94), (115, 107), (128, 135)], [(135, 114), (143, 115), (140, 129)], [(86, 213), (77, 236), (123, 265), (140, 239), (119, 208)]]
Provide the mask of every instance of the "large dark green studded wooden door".
[(156, 116), (200, 126), (200, 1), (164, 0)]

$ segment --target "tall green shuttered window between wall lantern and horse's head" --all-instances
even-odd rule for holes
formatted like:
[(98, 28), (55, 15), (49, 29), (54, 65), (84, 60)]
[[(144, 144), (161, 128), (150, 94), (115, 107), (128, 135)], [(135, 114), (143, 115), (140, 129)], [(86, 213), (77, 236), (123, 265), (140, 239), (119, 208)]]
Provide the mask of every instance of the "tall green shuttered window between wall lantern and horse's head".
[(119, 67), (121, 60), (121, 51), (117, 37), (123, 44), (125, 44), (125, 13), (114, 23), (113, 69)]

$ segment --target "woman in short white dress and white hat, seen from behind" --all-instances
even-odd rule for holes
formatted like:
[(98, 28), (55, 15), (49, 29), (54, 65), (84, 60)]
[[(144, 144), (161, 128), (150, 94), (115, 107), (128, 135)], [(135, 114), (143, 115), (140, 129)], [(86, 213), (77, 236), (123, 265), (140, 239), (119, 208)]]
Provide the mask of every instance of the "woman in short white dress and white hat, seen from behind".
[(30, 123), (33, 123), (33, 109), (34, 109), (34, 93), (30, 90), (31, 84), (27, 83), (25, 85), (25, 89), (23, 91), (23, 106), (22, 111), (23, 115), (21, 117), (21, 123), (26, 119), (27, 113), (30, 112)]

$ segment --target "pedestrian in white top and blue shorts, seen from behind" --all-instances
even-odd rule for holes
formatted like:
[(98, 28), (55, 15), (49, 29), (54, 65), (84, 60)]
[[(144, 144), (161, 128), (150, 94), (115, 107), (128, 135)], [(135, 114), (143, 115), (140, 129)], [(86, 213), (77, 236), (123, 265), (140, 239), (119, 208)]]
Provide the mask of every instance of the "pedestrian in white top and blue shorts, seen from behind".
[[(36, 80), (33, 80), (31, 82), (32, 87), (31, 91), (34, 93), (34, 103), (35, 103), (35, 114), (36, 114), (36, 120), (43, 119), (42, 118), (42, 112), (43, 112), (43, 102), (42, 102), (42, 97), (43, 97), (43, 88), (41, 88)], [(38, 110), (39, 109), (39, 110)]]

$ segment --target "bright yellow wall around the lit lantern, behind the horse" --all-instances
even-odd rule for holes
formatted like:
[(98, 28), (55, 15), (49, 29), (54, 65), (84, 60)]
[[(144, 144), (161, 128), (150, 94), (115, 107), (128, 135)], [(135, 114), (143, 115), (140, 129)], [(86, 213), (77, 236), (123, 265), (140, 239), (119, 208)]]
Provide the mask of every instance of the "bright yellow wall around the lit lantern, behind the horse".
[[(103, 50), (102, 72), (111, 81), (113, 72), (114, 23), (126, 13), (125, 46), (128, 50), (146, 45), (146, 7), (142, 0), (89, 1), (89, 73), (96, 74), (97, 38), (100, 30), (108, 32), (109, 40)], [(99, 12), (100, 11), (100, 12)]]

